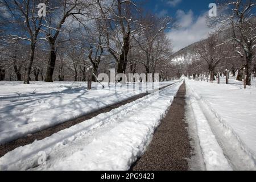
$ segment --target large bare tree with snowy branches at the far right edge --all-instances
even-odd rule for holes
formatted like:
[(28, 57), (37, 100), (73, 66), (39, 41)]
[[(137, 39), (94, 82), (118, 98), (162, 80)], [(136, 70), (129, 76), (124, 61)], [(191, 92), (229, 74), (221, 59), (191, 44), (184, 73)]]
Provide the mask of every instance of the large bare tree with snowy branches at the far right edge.
[[(230, 30), (232, 35), (226, 42), (236, 41), (243, 52), (236, 51), (246, 60), (246, 85), (251, 85), (252, 60), (256, 49), (256, 19), (255, 0), (220, 1), (220, 12), (217, 21), (224, 24), (226, 30)], [(228, 28), (226, 28), (228, 27)]]

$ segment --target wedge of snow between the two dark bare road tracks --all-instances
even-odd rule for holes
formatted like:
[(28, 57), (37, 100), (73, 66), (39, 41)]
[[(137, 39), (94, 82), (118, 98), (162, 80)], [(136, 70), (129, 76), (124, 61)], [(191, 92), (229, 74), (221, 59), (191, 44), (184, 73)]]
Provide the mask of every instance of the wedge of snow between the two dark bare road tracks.
[(143, 154), (181, 84), (16, 148), (0, 158), (0, 170), (127, 170)]

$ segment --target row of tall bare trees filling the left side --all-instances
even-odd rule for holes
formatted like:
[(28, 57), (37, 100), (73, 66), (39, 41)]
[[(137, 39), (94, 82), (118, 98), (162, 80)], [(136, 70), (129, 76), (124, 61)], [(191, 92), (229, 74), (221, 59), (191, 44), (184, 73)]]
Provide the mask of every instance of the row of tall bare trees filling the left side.
[[(40, 17), (42, 2), (47, 11)], [(142, 6), (130, 0), (1, 0), (0, 80), (85, 81), (88, 67), (94, 75), (116, 68), (172, 77), (164, 32), (177, 25)]]

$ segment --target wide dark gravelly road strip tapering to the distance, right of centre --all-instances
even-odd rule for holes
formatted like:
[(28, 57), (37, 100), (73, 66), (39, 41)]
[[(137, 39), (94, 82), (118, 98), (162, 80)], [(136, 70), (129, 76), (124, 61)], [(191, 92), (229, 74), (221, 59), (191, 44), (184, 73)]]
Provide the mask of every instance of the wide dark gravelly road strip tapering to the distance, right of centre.
[(185, 123), (185, 84), (181, 85), (166, 117), (156, 129), (147, 151), (132, 167), (133, 171), (185, 171), (191, 146)]

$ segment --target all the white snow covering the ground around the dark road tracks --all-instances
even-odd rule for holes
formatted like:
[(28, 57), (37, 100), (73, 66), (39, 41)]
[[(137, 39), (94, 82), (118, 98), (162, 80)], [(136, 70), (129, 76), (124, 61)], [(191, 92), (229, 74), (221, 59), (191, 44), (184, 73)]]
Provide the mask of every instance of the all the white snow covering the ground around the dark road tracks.
[[(159, 83), (155, 88), (172, 82)], [(187, 78), (185, 82), (186, 118), (198, 160), (191, 162), (192, 169), (256, 170), (256, 81), (247, 89), (234, 77), (230, 77), (229, 85), (225, 84), (225, 77), (221, 77), (221, 84)], [(147, 90), (146, 85), (141, 90), (135, 86), (133, 92), (126, 92), (126, 85), (113, 90), (113, 84), (110, 90), (93, 85), (94, 90), (88, 91), (85, 84), (0, 82), (0, 141), (67, 121)], [(181, 82), (176, 83), (159, 94), (15, 148), (0, 158), (0, 170), (127, 170), (150, 143), (180, 85)]]

